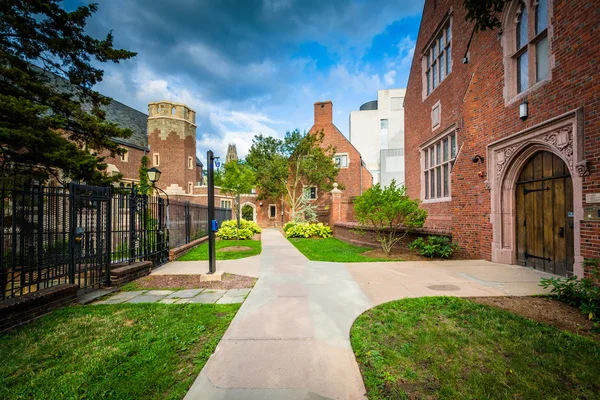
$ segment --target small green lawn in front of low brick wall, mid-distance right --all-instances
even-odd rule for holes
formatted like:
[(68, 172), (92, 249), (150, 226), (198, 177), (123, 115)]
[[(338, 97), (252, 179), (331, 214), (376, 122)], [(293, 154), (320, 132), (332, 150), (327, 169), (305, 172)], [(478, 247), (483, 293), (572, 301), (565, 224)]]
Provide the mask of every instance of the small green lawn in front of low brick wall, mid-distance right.
[(288, 239), (302, 254), (312, 261), (333, 262), (381, 262), (402, 261), (363, 256), (362, 253), (373, 250), (370, 247), (354, 246), (336, 238)]

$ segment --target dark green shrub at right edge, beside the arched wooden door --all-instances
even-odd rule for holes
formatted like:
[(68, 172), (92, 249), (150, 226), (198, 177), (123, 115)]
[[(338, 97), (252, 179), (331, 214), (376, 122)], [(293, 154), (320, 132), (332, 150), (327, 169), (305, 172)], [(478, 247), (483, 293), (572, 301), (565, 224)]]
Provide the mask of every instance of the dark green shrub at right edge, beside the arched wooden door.
[[(586, 259), (584, 265), (590, 268), (593, 278), (600, 278), (600, 260)], [(564, 301), (587, 315), (590, 320), (600, 319), (600, 286), (591, 277), (577, 279), (576, 276), (568, 278), (542, 278), (540, 286), (551, 288), (550, 294), (558, 300)]]

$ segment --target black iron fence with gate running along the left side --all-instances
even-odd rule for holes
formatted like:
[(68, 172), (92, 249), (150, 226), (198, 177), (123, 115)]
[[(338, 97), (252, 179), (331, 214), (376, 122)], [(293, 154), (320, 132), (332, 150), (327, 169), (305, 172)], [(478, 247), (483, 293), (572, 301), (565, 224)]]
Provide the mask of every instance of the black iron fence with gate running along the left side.
[[(0, 186), (0, 300), (64, 283), (83, 290), (110, 285), (111, 265), (160, 265), (169, 247), (208, 234), (207, 207), (169, 207), (135, 188)], [(218, 209), (217, 219), (229, 218), (231, 210)]]

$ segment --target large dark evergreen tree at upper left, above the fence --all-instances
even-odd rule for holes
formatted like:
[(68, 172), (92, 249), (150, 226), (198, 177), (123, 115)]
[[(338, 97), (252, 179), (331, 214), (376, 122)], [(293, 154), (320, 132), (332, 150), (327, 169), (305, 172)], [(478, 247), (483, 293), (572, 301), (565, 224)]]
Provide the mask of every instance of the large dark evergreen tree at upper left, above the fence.
[(0, 175), (113, 182), (100, 154), (124, 154), (111, 138), (131, 131), (105, 120), (111, 99), (92, 90), (103, 77), (92, 62), (135, 53), (115, 49), (112, 33), (85, 34), (96, 4), (67, 12), (61, 3), (0, 2)]

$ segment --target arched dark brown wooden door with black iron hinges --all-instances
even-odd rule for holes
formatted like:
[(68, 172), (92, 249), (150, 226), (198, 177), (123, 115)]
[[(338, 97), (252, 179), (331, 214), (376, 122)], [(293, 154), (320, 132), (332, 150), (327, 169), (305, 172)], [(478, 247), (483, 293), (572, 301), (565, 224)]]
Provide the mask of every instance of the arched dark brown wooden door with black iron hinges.
[(557, 275), (573, 273), (573, 181), (547, 151), (527, 162), (517, 181), (517, 261)]

